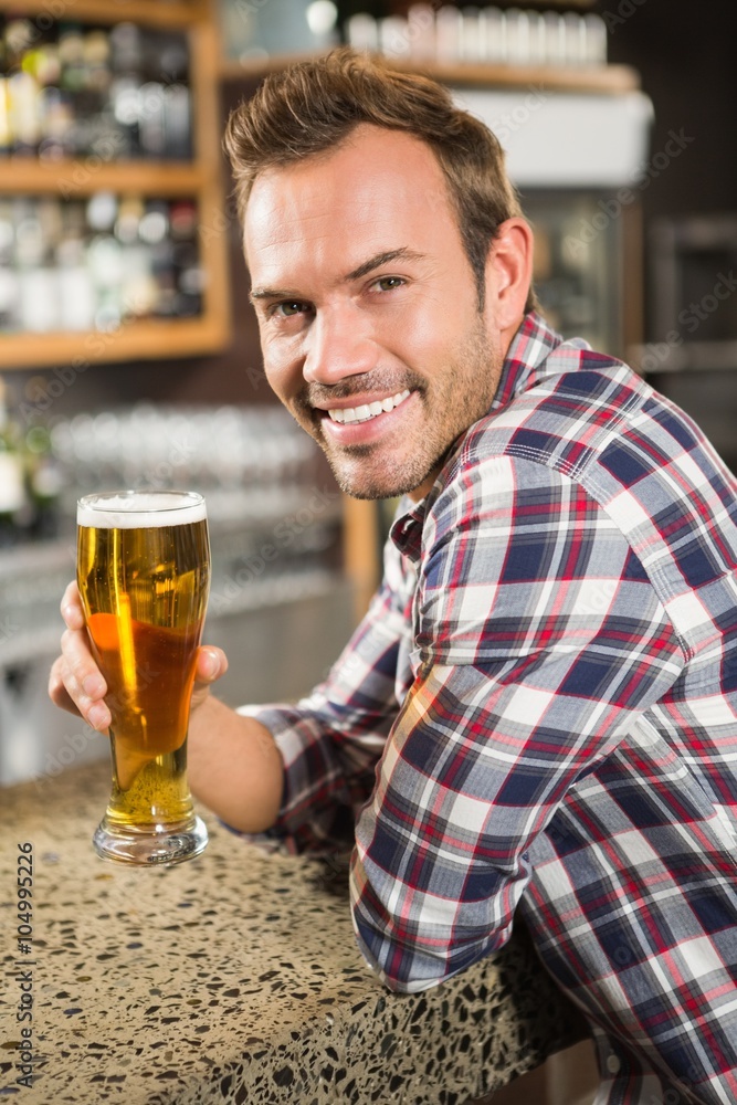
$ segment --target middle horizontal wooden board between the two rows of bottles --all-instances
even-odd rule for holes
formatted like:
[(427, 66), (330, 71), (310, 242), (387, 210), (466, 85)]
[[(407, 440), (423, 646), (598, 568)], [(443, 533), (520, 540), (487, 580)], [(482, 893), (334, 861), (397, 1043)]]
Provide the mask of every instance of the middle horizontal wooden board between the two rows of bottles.
[(193, 196), (204, 179), (202, 167), (192, 162), (0, 159), (0, 193), (53, 192), (62, 199), (99, 191)]

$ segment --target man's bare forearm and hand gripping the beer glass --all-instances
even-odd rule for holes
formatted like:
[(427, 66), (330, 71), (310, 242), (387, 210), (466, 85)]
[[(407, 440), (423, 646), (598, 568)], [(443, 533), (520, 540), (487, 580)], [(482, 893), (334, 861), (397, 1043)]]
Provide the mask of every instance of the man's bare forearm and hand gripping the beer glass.
[[(110, 713), (107, 687), (90, 651), (76, 583), (62, 600), (66, 630), (62, 654), (49, 680), (52, 701), (80, 714), (105, 733)], [(284, 765), (270, 730), (243, 717), (210, 695), (210, 686), (228, 666), (220, 649), (198, 654), (197, 682), (188, 740), (188, 777), (192, 792), (218, 817), (242, 832), (264, 832), (277, 817), (284, 786)]]

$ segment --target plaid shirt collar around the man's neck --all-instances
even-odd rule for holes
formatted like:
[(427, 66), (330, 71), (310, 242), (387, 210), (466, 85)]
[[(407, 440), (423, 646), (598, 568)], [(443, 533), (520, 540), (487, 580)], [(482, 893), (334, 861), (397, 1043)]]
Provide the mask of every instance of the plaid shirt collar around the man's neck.
[[(556, 334), (537, 312), (530, 311), (529, 314), (525, 315), (519, 329), (509, 344), (489, 412), (501, 410), (515, 396), (534, 387), (543, 375), (548, 357), (561, 341), (560, 335)], [(464, 436), (465, 434), (461, 435), (459, 443)], [(438, 481), (442, 481), (443, 471), (454, 456), (459, 443), (456, 443), (455, 449), (449, 452), (445, 464), (438, 474)], [(389, 530), (389, 536), (399, 551), (409, 557), (413, 564), (418, 564), (420, 560), (422, 526), (428, 511), (428, 501), (432, 498), (433, 491), (434, 487), (419, 503), (413, 503), (406, 495), (399, 503), (397, 516)]]

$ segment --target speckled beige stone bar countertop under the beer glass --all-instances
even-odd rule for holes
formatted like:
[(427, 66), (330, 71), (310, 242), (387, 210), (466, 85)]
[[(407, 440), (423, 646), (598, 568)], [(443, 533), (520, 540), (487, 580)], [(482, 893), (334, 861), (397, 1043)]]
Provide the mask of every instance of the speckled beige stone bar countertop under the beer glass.
[[(3, 1101), (461, 1105), (580, 1039), (518, 939), (442, 987), (389, 993), (354, 943), (343, 875), (265, 854), (208, 814), (196, 860), (98, 859), (108, 787), (94, 765), (0, 791)], [(23, 842), (30, 954), (18, 948)], [(21, 1059), (31, 1084), (17, 1081)]]

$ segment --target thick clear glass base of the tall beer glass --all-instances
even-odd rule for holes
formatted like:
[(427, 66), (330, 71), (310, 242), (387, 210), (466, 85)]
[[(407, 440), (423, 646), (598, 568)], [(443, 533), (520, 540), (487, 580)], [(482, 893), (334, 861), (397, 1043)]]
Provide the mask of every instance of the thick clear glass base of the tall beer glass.
[(160, 825), (158, 829), (116, 825), (103, 818), (92, 843), (104, 860), (143, 866), (164, 865), (181, 863), (203, 852), (208, 843), (208, 830), (198, 817), (183, 825)]

